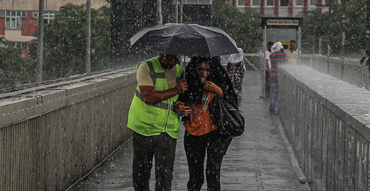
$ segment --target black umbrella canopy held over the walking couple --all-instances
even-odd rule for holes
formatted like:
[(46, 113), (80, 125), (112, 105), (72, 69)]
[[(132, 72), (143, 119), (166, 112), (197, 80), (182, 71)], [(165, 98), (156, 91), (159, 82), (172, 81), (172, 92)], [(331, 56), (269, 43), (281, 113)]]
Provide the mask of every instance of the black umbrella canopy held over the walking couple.
[(235, 41), (223, 30), (198, 24), (165, 24), (140, 30), (131, 47), (187, 56), (220, 56), (239, 53)]

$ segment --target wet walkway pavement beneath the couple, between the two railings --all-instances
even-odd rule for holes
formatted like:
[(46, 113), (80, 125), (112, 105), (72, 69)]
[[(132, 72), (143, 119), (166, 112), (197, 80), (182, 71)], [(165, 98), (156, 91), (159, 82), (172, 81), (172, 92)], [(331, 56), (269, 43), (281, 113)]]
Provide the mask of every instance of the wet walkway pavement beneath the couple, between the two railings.
[[(259, 72), (247, 71), (243, 84), (243, 101), (240, 111), (246, 120), (242, 136), (231, 142), (221, 168), (222, 191), (309, 191), (298, 181), (300, 169), (281, 124), (268, 111), (268, 99), (260, 98)], [(186, 191), (188, 168), (183, 146), (184, 128), (177, 140), (173, 173), (173, 191)], [(153, 163), (154, 164), (154, 163)], [(121, 148), (93, 170), (71, 191), (133, 191), (132, 142)], [(154, 167), (150, 188), (154, 190)], [(207, 189), (206, 182), (202, 191)]]

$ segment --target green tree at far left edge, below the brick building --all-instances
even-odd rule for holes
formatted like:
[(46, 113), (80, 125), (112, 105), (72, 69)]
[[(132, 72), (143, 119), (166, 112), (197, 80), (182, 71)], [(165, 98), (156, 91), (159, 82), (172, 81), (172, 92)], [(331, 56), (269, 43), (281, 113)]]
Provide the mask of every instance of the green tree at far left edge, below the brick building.
[(0, 89), (30, 83), (34, 79), (34, 65), (23, 58), (5, 37), (0, 37)]

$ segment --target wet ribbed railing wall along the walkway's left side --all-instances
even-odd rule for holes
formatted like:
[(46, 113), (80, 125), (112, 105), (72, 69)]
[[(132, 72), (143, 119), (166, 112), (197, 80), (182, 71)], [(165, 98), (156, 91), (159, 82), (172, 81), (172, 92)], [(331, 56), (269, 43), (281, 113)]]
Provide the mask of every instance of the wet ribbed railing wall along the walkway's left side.
[(0, 95), (0, 191), (62, 191), (131, 137), (135, 70)]

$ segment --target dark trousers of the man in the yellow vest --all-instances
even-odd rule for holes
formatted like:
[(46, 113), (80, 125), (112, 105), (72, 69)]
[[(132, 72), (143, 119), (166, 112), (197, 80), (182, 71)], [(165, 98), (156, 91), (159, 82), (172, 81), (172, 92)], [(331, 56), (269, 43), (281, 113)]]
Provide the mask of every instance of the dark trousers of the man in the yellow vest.
[(176, 139), (166, 132), (155, 136), (133, 135), (132, 178), (135, 191), (149, 191), (150, 171), (155, 160), (155, 191), (171, 191)]

